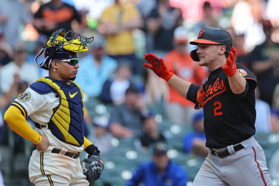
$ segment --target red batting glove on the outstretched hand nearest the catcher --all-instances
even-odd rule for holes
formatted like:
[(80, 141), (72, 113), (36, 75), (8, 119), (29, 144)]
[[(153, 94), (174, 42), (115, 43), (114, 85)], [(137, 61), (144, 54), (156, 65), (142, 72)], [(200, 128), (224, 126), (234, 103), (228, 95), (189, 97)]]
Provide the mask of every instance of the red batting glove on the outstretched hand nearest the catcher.
[(155, 54), (144, 54), (144, 59), (151, 65), (144, 63), (144, 66), (153, 70), (157, 76), (168, 81), (174, 75), (171, 70), (165, 65), (163, 58), (159, 59)]

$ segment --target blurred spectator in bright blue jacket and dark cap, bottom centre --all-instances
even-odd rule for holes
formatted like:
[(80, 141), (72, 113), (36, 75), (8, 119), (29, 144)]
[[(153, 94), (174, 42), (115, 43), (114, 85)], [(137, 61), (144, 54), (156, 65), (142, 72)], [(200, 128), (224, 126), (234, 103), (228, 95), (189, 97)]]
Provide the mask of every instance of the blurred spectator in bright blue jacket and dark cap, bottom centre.
[(145, 186), (185, 186), (188, 180), (186, 172), (168, 158), (167, 151), (167, 144), (154, 144), (152, 160), (137, 167), (126, 186), (137, 186), (140, 183)]

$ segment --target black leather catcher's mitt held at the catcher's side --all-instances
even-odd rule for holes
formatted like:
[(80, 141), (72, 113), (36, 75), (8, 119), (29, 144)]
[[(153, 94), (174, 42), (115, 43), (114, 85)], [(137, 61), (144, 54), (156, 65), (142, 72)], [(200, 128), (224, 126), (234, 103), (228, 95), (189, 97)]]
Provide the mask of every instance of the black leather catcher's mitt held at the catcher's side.
[(86, 179), (94, 183), (102, 174), (103, 162), (99, 156), (90, 156), (81, 161), (81, 167)]

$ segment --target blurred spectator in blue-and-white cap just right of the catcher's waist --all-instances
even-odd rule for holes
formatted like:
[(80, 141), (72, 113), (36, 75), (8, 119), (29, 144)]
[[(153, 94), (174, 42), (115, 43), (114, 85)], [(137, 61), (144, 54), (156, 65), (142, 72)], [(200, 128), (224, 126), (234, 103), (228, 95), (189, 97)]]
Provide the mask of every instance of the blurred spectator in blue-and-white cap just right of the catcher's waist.
[(90, 142), (99, 146), (98, 148), (102, 151), (102, 154), (108, 153), (112, 148), (112, 135), (108, 132), (108, 119), (106, 116), (95, 116), (93, 118), (94, 128), (92, 128), (91, 135), (87, 138)]

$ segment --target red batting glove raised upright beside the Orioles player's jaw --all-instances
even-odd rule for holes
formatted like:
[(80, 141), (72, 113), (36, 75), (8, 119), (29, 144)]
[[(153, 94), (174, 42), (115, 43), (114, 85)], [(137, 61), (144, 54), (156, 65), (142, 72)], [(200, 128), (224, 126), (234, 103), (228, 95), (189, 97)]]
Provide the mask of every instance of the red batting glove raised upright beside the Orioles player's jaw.
[(232, 77), (235, 75), (236, 72), (236, 64), (235, 64), (235, 56), (236, 56), (236, 49), (232, 47), (230, 50), (230, 56), (227, 58), (226, 64), (222, 66), (222, 69), (227, 74), (228, 77)]

